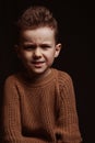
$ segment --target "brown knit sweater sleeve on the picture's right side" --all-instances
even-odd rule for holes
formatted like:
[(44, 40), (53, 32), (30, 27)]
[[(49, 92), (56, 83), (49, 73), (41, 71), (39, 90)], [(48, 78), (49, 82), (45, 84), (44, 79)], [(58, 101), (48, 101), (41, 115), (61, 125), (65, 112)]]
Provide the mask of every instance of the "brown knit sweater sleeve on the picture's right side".
[(59, 114), (56, 127), (58, 143), (81, 143), (73, 82), (67, 73), (59, 77)]

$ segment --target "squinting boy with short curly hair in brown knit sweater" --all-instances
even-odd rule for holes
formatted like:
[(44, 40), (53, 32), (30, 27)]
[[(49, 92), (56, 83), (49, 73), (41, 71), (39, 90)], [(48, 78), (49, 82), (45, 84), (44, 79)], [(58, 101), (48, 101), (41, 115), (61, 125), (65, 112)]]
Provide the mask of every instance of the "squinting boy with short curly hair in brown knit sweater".
[(4, 84), (2, 142), (80, 143), (72, 79), (51, 68), (61, 50), (57, 21), (48, 9), (31, 7), (17, 28), (24, 68)]

